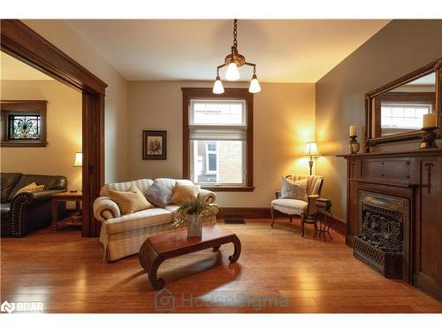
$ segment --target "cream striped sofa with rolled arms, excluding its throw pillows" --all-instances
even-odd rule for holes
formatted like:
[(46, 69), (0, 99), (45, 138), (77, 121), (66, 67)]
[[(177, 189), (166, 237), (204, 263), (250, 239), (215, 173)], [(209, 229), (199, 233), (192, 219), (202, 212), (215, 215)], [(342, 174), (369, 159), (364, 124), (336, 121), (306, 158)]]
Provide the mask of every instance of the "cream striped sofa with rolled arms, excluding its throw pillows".
[[(149, 236), (176, 229), (171, 227), (171, 213), (176, 211), (179, 205), (167, 205), (164, 208), (151, 208), (122, 215), (118, 205), (109, 198), (109, 190), (126, 191), (132, 184), (135, 184), (145, 194), (154, 181), (172, 190), (176, 181), (183, 184), (193, 184), (189, 180), (141, 179), (109, 183), (100, 190), (100, 197), (97, 197), (94, 202), (94, 214), (97, 220), (102, 221), (100, 242), (103, 243), (103, 259), (105, 261), (110, 262), (136, 254), (140, 250), (141, 244)], [(198, 195), (204, 197), (210, 204), (215, 205), (217, 203), (216, 195), (209, 190), (200, 189)], [(203, 220), (206, 225), (216, 222), (216, 215), (206, 217)], [(181, 227), (186, 226), (182, 225)]]

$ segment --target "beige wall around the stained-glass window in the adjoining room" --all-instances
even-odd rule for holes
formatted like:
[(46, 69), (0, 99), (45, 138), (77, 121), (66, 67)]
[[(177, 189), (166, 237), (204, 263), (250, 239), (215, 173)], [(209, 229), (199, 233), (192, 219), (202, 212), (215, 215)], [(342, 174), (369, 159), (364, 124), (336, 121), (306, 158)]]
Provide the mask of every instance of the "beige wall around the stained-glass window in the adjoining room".
[(81, 94), (58, 81), (1, 81), (2, 100), (47, 100), (45, 148), (1, 149), (2, 172), (65, 175), (70, 189), (81, 189), (81, 168), (72, 167), (81, 151)]

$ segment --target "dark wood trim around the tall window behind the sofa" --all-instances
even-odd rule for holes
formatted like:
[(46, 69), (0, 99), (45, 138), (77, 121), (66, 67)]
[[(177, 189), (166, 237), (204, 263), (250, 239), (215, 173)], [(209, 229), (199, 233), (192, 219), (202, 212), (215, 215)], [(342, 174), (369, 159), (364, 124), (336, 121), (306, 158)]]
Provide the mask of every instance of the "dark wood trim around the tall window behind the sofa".
[[(215, 191), (253, 191), (253, 94), (248, 89), (229, 88), (222, 95), (214, 95), (210, 88), (181, 88), (183, 91), (183, 178), (190, 179), (190, 146), (188, 109), (191, 99), (240, 99), (247, 105), (247, 177), (246, 186), (209, 187)], [(223, 189), (222, 189), (223, 188)]]

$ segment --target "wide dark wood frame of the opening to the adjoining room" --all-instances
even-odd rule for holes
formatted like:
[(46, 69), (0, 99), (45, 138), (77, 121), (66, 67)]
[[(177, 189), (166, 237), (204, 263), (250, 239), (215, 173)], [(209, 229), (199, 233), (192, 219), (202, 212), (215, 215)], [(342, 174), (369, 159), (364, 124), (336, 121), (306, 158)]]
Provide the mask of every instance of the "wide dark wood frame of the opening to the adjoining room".
[(82, 93), (83, 236), (97, 236), (93, 202), (104, 184), (104, 96), (107, 84), (19, 19), (1, 19), (1, 50)]

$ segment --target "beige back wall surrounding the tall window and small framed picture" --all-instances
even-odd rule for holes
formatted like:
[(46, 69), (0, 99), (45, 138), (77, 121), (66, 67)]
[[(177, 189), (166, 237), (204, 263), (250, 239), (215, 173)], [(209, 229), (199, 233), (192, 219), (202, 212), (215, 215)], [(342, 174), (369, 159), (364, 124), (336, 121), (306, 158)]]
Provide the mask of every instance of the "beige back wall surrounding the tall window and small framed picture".
[[(181, 87), (203, 81), (131, 81), (128, 86), (128, 174), (130, 179), (182, 177)], [(234, 85), (240, 87), (241, 83)], [(242, 83), (247, 87), (247, 83)], [(254, 101), (254, 179), (250, 193), (218, 192), (221, 206), (266, 207), (281, 175), (308, 173), (303, 144), (314, 139), (315, 84), (263, 83)], [(142, 160), (143, 129), (167, 130), (167, 160)]]

